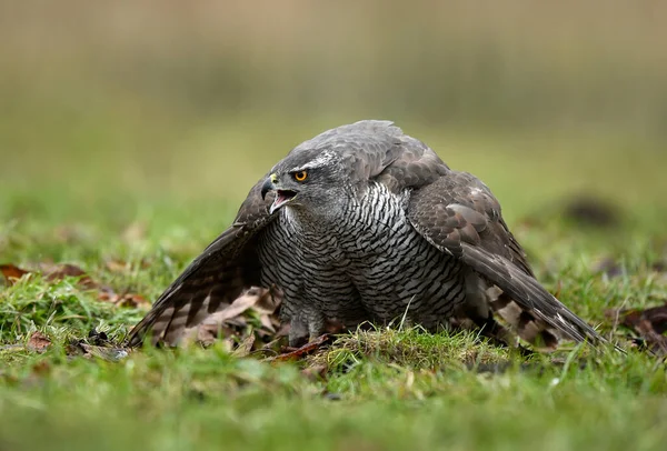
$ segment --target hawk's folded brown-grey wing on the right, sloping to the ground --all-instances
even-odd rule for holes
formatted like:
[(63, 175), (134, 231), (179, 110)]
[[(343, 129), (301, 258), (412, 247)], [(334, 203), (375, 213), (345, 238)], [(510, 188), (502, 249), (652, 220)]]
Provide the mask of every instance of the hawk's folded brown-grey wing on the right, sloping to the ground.
[(411, 193), (408, 217), (436, 248), (471, 267), (520, 309), (571, 340), (605, 342), (535, 279), (505, 224), (490, 190), (466, 172), (451, 171)]

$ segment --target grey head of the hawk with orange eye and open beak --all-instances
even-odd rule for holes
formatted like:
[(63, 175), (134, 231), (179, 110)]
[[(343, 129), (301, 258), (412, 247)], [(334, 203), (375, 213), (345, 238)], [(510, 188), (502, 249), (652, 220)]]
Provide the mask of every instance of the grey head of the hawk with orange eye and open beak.
[(273, 167), (262, 186), (262, 197), (276, 191), (270, 213), (288, 207), (335, 214), (387, 166), (401, 137), (389, 121), (360, 121), (302, 142)]

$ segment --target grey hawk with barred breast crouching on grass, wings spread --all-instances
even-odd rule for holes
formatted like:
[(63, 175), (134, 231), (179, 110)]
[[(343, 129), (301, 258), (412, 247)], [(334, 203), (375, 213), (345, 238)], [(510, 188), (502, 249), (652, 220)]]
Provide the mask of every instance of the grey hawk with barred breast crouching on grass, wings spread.
[(281, 292), (290, 345), (329, 321), (396, 319), (550, 349), (563, 338), (605, 342), (535, 279), (487, 186), (389, 121), (338, 127), (291, 150), (128, 343), (176, 345), (250, 287)]

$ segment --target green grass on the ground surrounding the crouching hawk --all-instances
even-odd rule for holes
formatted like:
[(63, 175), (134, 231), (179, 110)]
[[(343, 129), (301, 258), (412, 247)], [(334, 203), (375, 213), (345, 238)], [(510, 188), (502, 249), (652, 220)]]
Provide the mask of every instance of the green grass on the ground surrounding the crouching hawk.
[[(607, 310), (667, 297), (665, 275), (653, 269), (667, 249), (667, 210), (656, 207), (667, 162), (654, 151), (659, 142), (628, 164), (630, 139), (557, 137), (535, 154), (535, 137), (402, 126), (491, 186), (539, 279), (605, 334), (626, 334)], [(148, 180), (123, 176), (139, 161), (130, 153), (77, 160), (74, 149), (62, 158), (77, 164), (51, 178), (13, 156), (23, 177), (1, 182), (0, 263), (70, 262), (117, 292), (156, 299), (231, 221), (245, 187), (319, 130), (288, 129), (278, 143), (233, 132), (233, 123), (189, 130), (198, 153)], [(220, 149), (231, 143), (230, 163)], [(178, 159), (179, 146), (163, 158)], [(621, 222), (600, 229), (560, 218), (571, 187), (611, 199)], [(617, 261), (620, 275), (600, 273), (603, 258)], [(119, 261), (127, 264), (110, 264)], [(664, 363), (637, 350), (565, 347), (526, 358), (470, 333), (407, 328), (342, 335), (297, 363), (235, 358), (221, 345), (143, 349), (118, 362), (68, 352), (92, 328), (121, 340), (143, 313), (98, 300), (74, 278), (32, 274), (0, 285), (0, 449), (650, 450), (667, 439)], [(36, 330), (52, 341), (43, 353), (22, 345)], [(322, 365), (323, 377), (301, 371)]]

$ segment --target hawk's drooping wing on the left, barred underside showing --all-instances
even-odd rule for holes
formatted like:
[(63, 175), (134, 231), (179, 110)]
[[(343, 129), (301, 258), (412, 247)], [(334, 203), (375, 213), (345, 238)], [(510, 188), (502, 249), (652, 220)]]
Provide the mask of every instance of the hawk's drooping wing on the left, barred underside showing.
[(245, 288), (259, 285), (255, 241), (276, 217), (267, 211), (271, 199), (261, 199), (262, 182), (252, 188), (233, 224), (195, 259), (130, 331), (129, 345), (141, 344), (147, 334), (153, 344), (175, 345), (186, 328), (232, 302)]

